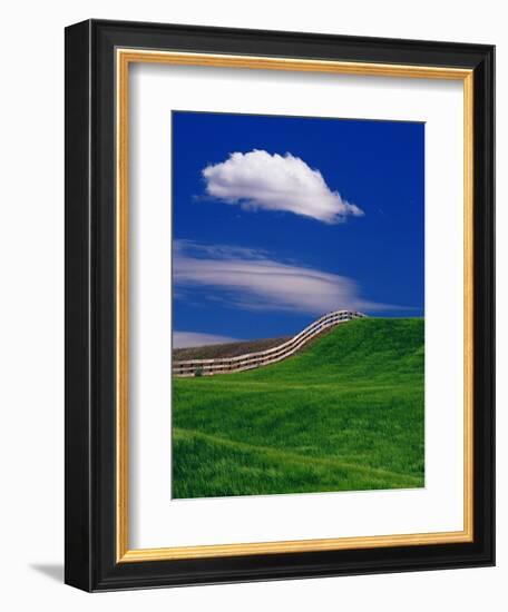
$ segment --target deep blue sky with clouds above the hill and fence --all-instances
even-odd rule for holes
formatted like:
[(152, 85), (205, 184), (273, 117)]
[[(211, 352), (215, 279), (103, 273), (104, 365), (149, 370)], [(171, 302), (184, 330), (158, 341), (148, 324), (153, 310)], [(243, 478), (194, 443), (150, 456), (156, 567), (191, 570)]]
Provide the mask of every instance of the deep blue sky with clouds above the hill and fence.
[(423, 315), (424, 125), (175, 111), (175, 346)]

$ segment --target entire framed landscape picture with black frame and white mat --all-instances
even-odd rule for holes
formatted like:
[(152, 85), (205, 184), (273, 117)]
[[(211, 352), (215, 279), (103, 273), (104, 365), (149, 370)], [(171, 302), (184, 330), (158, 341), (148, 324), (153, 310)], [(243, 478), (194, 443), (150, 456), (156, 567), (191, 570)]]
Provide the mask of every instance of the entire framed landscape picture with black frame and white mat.
[(492, 565), (491, 46), (66, 30), (66, 582)]

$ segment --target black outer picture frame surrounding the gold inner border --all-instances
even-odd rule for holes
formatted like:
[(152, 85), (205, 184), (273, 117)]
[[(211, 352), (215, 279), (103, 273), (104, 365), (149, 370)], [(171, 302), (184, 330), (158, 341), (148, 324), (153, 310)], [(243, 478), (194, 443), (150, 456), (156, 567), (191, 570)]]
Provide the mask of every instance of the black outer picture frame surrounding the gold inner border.
[[(115, 471), (115, 49), (473, 71), (473, 532), (470, 543), (118, 563)], [(66, 29), (66, 570), (85, 591), (495, 563), (495, 48), (88, 20)]]

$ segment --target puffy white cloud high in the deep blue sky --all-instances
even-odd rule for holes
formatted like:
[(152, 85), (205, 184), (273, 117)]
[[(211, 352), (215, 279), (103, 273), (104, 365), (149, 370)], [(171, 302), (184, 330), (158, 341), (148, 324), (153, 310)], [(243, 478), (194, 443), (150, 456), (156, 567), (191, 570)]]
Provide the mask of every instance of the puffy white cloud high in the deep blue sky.
[(363, 215), (332, 191), (319, 170), (289, 152), (233, 152), (226, 161), (206, 166), (203, 177), (209, 196), (247, 209), (284, 210), (326, 224)]

